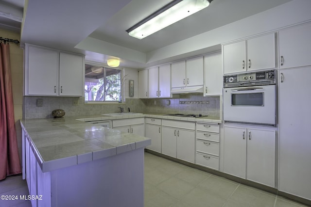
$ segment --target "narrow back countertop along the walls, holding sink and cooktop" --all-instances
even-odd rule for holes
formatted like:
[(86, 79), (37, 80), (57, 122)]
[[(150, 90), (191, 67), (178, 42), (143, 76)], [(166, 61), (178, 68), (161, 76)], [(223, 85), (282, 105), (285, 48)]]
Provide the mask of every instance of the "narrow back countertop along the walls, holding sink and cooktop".
[(115, 120), (115, 119), (126, 119), (126, 118), (138, 118), (138, 117), (150, 117), (150, 118), (160, 118), (160, 119), (170, 119), (176, 121), (191, 121), (191, 122), (208, 122), (221, 124), (223, 120), (219, 116), (202, 116), (202, 117), (179, 117), (179, 116), (168, 116), (165, 113), (144, 113), (138, 115), (118, 115), (118, 116), (105, 116), (105, 115), (90, 115), (90, 116), (79, 116), (76, 117), (77, 120), (83, 122), (89, 121), (101, 121), (101, 120)]

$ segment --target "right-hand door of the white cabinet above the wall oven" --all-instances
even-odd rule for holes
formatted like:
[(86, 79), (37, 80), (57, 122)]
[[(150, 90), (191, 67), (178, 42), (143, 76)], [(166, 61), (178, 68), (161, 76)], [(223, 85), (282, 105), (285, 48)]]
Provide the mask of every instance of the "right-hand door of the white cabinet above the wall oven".
[(275, 40), (275, 33), (247, 40), (247, 70), (276, 67)]

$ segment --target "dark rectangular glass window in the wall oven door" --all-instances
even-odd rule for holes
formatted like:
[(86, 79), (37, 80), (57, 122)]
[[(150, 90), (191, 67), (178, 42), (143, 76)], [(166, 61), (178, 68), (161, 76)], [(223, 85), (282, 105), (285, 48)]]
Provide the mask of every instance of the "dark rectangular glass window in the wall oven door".
[(232, 106), (263, 106), (263, 93), (231, 94)]

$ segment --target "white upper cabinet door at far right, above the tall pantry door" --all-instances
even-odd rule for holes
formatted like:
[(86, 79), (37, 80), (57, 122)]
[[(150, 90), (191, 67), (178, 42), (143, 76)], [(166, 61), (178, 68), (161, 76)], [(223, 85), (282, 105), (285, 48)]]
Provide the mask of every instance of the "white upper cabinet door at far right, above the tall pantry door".
[(311, 24), (278, 32), (279, 68), (311, 65)]

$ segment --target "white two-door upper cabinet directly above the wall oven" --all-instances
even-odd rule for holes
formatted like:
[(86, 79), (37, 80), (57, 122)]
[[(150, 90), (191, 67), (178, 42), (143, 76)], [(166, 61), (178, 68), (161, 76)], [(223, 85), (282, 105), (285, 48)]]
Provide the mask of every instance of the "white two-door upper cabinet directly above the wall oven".
[(223, 46), (224, 74), (276, 67), (276, 34)]

